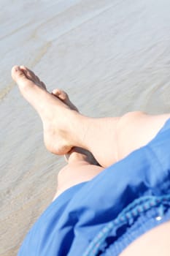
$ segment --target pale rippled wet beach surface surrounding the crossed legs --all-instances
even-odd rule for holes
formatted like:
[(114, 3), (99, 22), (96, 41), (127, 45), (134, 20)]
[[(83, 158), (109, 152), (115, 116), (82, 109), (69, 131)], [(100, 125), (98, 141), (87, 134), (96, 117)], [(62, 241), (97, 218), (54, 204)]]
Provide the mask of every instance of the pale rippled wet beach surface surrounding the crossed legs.
[(12, 81), (15, 64), (61, 88), (88, 116), (170, 111), (169, 0), (0, 0), (0, 256), (55, 193), (63, 157)]

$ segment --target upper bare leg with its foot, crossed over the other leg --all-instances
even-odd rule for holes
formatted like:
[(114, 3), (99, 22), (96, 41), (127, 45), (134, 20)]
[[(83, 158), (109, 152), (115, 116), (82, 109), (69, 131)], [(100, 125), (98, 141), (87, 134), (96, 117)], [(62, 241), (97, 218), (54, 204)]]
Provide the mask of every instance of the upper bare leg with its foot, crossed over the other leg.
[(73, 146), (85, 148), (103, 167), (148, 143), (170, 117), (169, 114), (149, 116), (135, 112), (121, 118), (88, 118), (56, 99), (25, 67), (13, 67), (12, 78), (42, 118), (49, 151), (66, 154)]

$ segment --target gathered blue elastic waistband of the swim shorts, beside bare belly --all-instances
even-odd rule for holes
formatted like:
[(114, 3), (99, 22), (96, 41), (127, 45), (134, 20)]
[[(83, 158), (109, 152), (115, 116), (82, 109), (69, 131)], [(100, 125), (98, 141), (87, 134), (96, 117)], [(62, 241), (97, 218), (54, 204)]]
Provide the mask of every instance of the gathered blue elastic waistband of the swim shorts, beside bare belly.
[[(83, 256), (117, 256), (143, 233), (169, 219), (170, 194), (140, 197), (103, 227), (90, 242)], [(107, 241), (108, 237), (112, 238)]]

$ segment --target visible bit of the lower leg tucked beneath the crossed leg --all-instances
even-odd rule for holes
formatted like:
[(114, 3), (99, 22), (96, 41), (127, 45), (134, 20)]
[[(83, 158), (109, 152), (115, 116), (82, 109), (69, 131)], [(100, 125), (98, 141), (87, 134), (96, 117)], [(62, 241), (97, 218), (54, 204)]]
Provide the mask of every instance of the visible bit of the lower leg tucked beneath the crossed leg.
[(104, 168), (96, 165), (92, 155), (82, 148), (73, 148), (69, 154), (68, 164), (58, 173), (58, 188), (53, 200), (69, 187), (90, 181)]

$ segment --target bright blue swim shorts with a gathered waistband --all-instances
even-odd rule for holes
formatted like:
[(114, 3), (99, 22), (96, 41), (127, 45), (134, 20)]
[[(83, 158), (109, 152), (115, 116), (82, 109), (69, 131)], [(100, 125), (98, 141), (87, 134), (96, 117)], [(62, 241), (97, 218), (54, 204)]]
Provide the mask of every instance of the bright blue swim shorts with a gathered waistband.
[(56, 198), (18, 256), (117, 256), (169, 219), (170, 119), (146, 146)]

